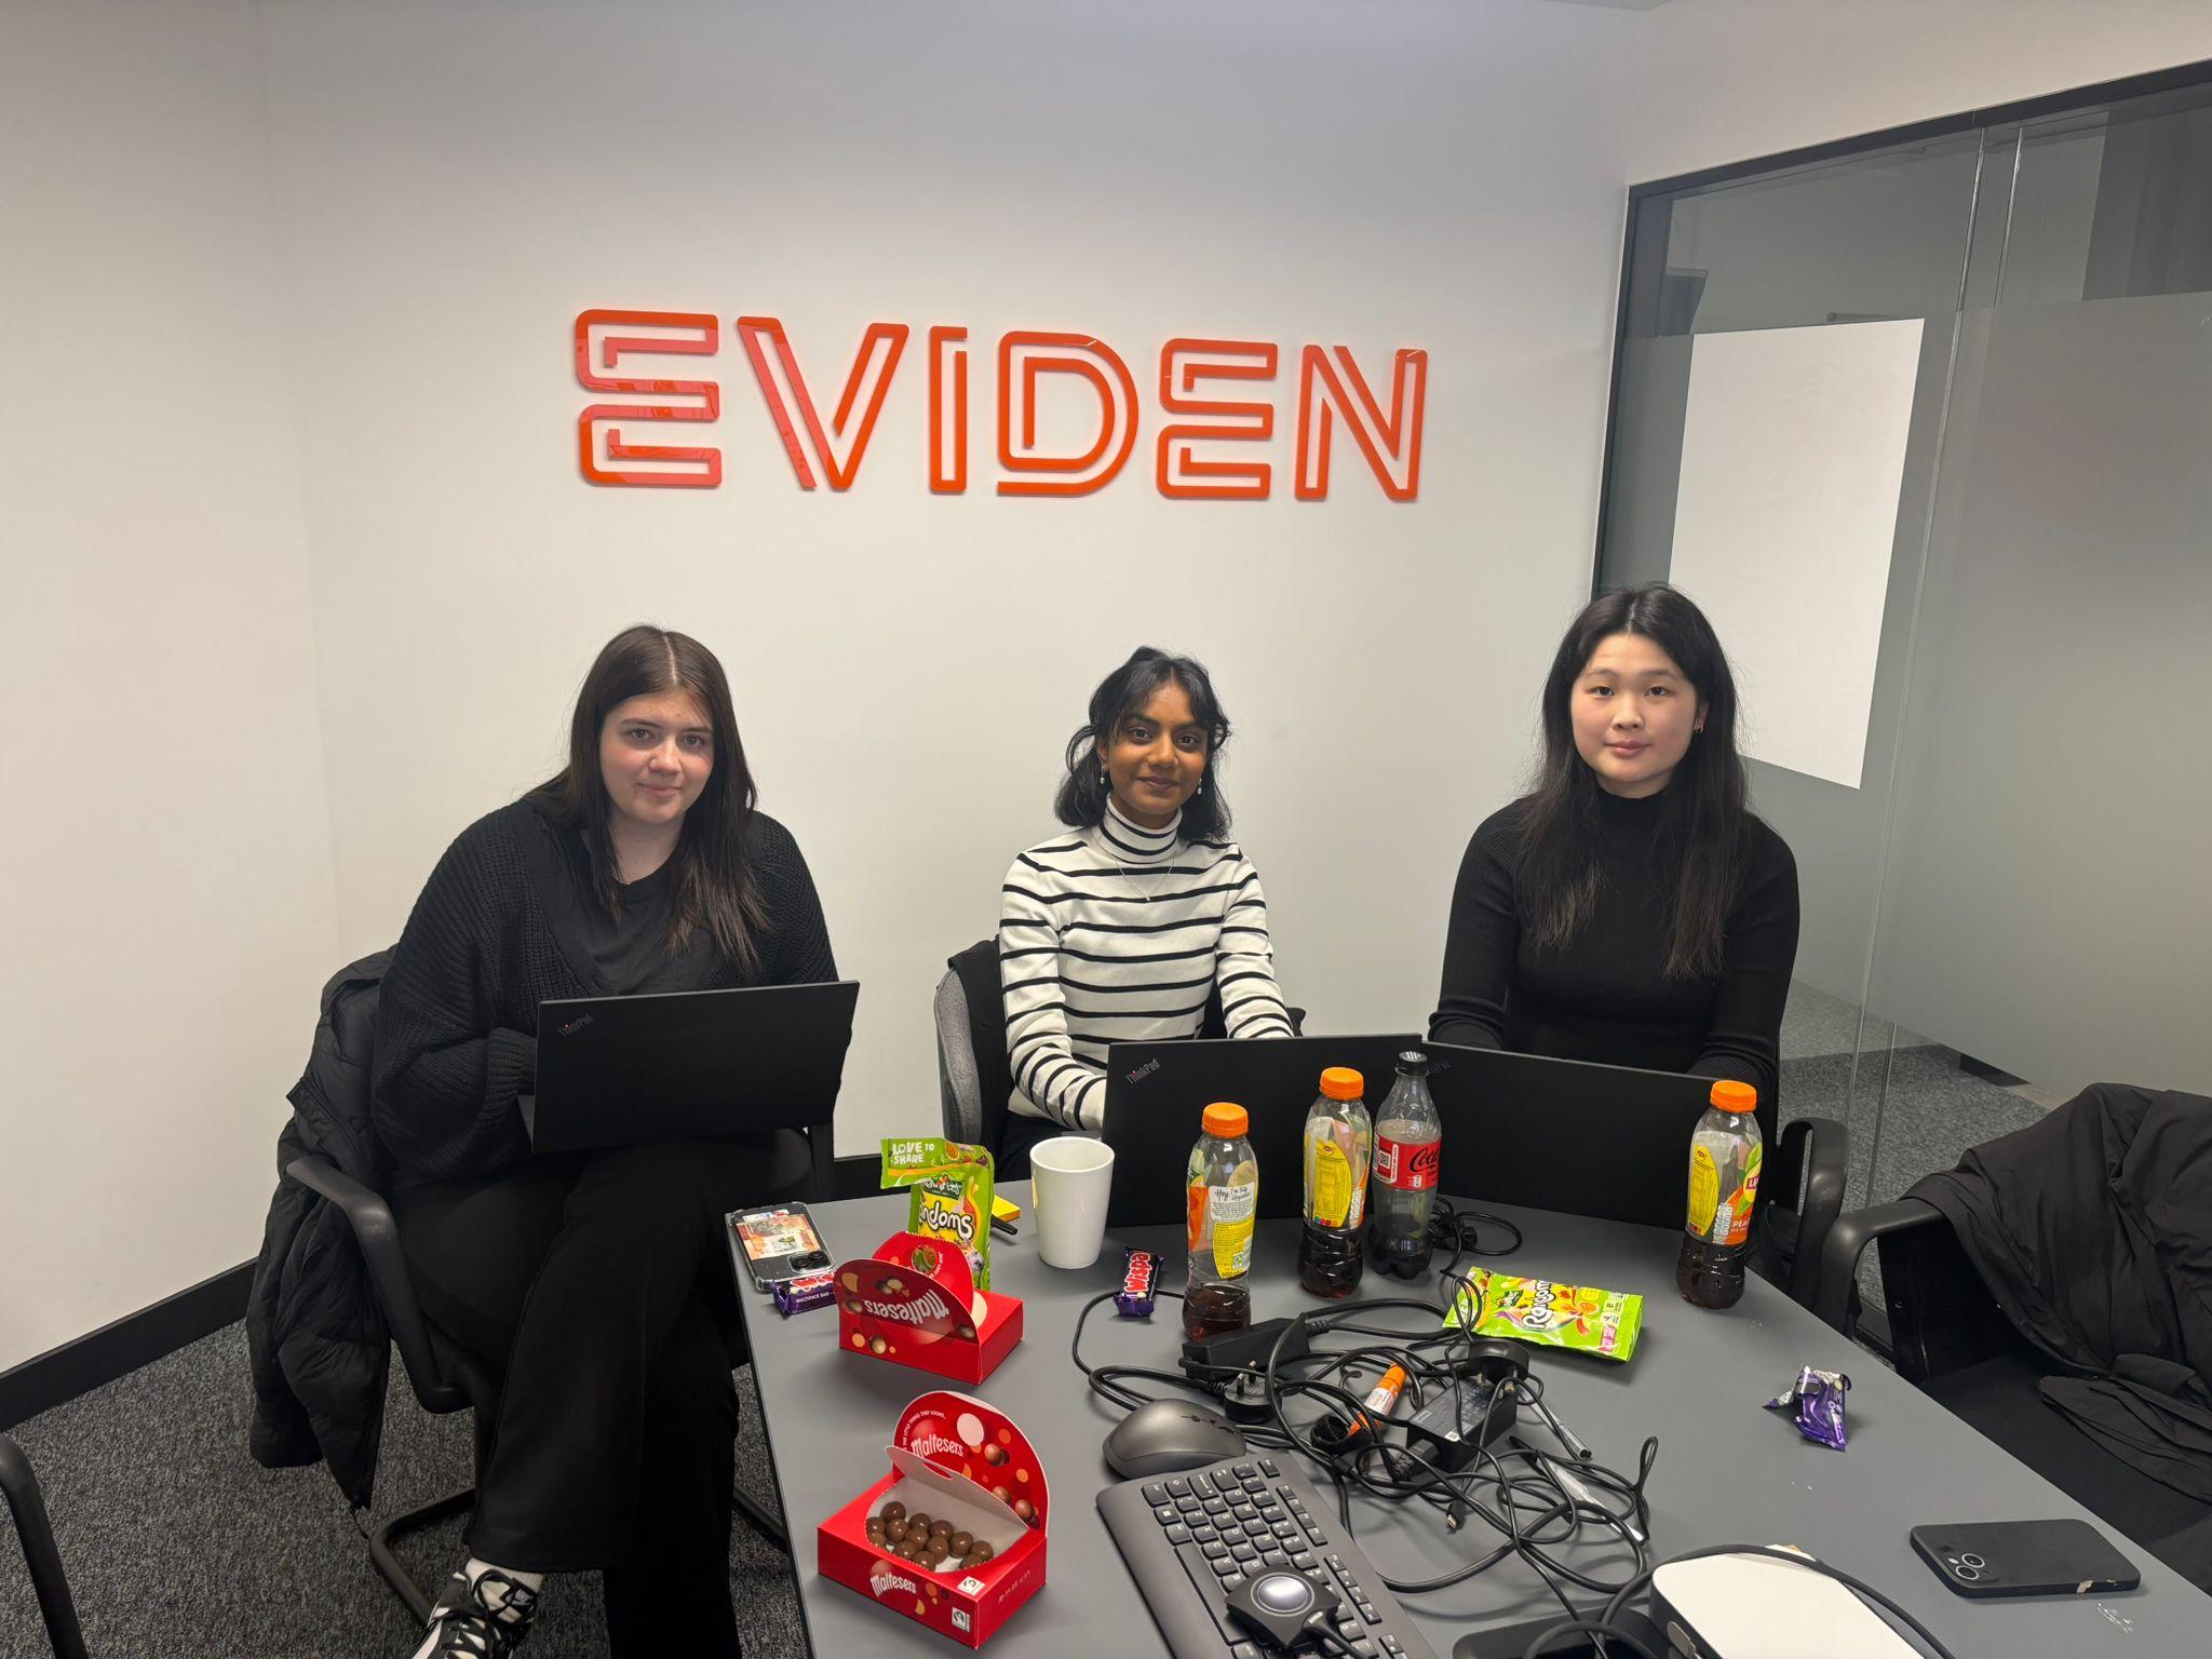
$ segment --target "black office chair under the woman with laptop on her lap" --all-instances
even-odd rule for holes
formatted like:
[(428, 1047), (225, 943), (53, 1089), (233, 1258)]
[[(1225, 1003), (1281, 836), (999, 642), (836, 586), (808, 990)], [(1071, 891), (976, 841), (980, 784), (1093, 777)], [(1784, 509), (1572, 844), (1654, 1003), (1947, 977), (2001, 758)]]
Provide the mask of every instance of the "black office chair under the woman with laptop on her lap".
[[(805, 1130), (807, 1155), (812, 1159), (807, 1197), (816, 1203), (827, 1199), (832, 1192), (832, 1124), (827, 1119), (812, 1124)], [(292, 1159), (285, 1166), (285, 1175), (301, 1186), (321, 1192), (345, 1212), (345, 1219), (354, 1230), (354, 1241), (361, 1245), (361, 1254), (369, 1263), (369, 1281), (376, 1285), (376, 1301), (383, 1307), (385, 1325), (392, 1327), (392, 1340), (400, 1349), (400, 1363), (407, 1367), (407, 1380), (422, 1409), (438, 1416), (449, 1411), (476, 1411), (473, 1473), (476, 1480), (482, 1480), (484, 1460), (491, 1453), (491, 1427), (498, 1420), (500, 1409), (500, 1385), (480, 1358), (471, 1356), (456, 1343), (449, 1343), (438, 1327), (422, 1316), (422, 1307), (414, 1294), (414, 1281), (407, 1276), (407, 1259), (400, 1254), (400, 1234), (392, 1219), (392, 1206), (385, 1203), (380, 1192), (372, 1192), (367, 1186), (352, 1179), (323, 1157)], [(790, 1553), (792, 1537), (781, 1513), (768, 1509), (748, 1491), (732, 1493), (732, 1502), (739, 1517), (743, 1517), (754, 1533), (774, 1544), (779, 1551)], [(460, 1515), (473, 1504), (476, 1482), (471, 1480), (465, 1491), (438, 1498), (436, 1502), (411, 1509), (405, 1515), (394, 1515), (380, 1526), (369, 1528), (369, 1559), (376, 1564), (385, 1584), (392, 1586), (416, 1619), (429, 1619), (431, 1595), (416, 1584), (414, 1575), (400, 1564), (394, 1553), (394, 1540), (425, 1526), (434, 1526), (447, 1515)]]

